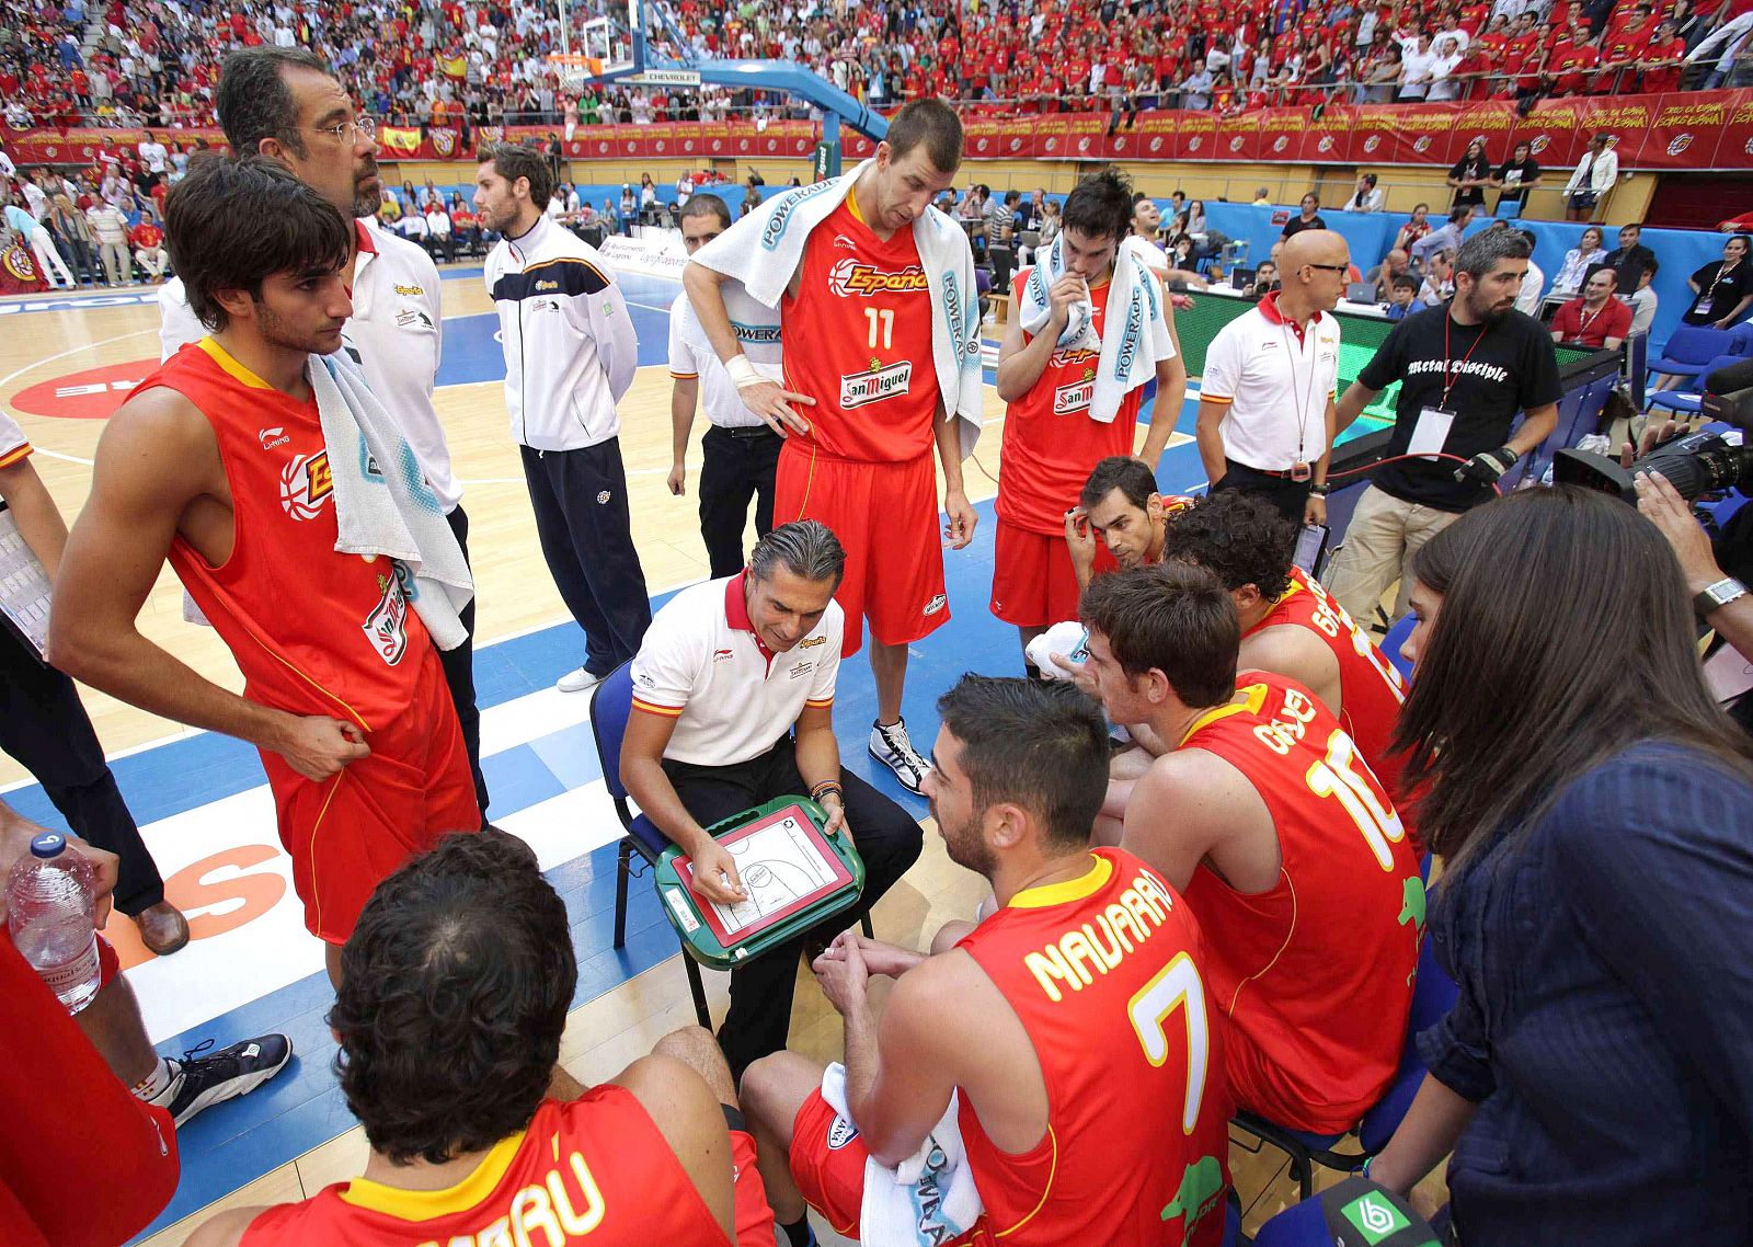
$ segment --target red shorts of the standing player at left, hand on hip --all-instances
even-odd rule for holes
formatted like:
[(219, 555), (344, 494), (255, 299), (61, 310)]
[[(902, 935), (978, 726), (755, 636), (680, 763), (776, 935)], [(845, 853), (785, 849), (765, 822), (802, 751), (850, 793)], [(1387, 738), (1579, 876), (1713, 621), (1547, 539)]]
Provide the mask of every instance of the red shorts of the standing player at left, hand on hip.
[(436, 649), (421, 659), (408, 709), (366, 744), (370, 756), (321, 784), (279, 754), (261, 754), (305, 926), (330, 944), (347, 942), (372, 889), (412, 854), (447, 831), (480, 830), (463, 728)]

